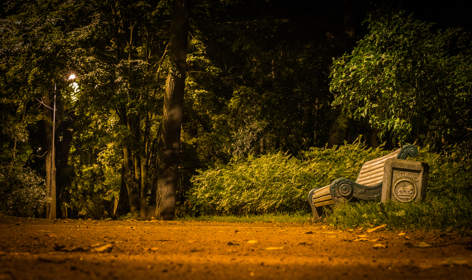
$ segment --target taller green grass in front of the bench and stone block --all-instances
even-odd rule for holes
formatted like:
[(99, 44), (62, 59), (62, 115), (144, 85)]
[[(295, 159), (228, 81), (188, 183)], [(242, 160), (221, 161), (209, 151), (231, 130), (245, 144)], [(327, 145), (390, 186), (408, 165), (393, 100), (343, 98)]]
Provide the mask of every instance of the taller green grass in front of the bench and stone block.
[(343, 228), (387, 224), (388, 228), (396, 229), (454, 230), (466, 233), (472, 230), (471, 216), (470, 199), (438, 197), (415, 203), (360, 201), (339, 204), (329, 212), (327, 222)]

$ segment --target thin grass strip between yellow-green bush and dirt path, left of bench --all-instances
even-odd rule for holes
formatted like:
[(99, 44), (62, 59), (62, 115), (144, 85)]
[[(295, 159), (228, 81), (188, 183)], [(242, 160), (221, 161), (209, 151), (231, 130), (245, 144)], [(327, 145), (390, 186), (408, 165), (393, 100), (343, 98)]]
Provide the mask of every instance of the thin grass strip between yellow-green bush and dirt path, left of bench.
[(311, 215), (306, 213), (279, 213), (279, 214), (265, 214), (265, 215), (247, 215), (247, 216), (235, 216), (235, 215), (202, 215), (199, 217), (193, 217), (185, 215), (184, 217), (176, 218), (175, 220), (184, 221), (210, 221), (210, 222), (226, 222), (226, 223), (306, 223)]

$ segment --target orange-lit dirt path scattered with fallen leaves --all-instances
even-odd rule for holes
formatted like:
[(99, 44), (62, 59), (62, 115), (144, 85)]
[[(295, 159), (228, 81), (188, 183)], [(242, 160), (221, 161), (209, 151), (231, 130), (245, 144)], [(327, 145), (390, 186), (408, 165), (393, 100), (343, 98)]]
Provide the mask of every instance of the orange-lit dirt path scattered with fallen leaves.
[[(0, 280), (472, 279), (471, 237), (397, 234), (382, 228), (340, 232), (309, 223), (0, 216)], [(380, 239), (352, 241), (359, 238)], [(432, 246), (405, 245), (420, 242)]]

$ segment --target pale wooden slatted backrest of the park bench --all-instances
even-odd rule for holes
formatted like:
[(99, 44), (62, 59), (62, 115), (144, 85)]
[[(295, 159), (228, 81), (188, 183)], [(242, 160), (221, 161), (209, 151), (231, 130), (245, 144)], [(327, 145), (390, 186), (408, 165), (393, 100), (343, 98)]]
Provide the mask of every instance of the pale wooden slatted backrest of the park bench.
[(359, 172), (359, 175), (357, 176), (357, 180), (355, 180), (355, 182), (357, 184), (362, 184), (365, 186), (374, 186), (382, 182), (384, 173), (383, 167), (385, 165), (385, 161), (388, 158), (396, 158), (400, 150), (401, 149), (397, 149), (396, 151), (393, 151), (386, 156), (372, 159), (364, 163), (361, 168), (361, 172)]

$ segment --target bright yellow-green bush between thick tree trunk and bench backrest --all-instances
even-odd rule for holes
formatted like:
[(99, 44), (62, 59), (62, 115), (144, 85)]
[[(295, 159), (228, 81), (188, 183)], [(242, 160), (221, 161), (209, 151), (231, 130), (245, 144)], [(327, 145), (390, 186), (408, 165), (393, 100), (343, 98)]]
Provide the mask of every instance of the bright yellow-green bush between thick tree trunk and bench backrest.
[(192, 179), (189, 200), (202, 214), (257, 215), (309, 212), (308, 192), (338, 177), (355, 180), (364, 161), (387, 154), (361, 143), (339, 149), (312, 148), (301, 161), (282, 152), (236, 158), (228, 166), (202, 171)]

